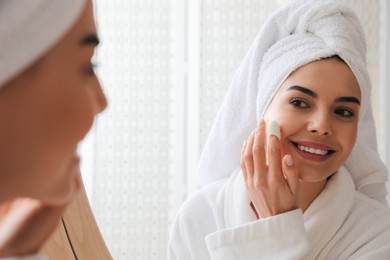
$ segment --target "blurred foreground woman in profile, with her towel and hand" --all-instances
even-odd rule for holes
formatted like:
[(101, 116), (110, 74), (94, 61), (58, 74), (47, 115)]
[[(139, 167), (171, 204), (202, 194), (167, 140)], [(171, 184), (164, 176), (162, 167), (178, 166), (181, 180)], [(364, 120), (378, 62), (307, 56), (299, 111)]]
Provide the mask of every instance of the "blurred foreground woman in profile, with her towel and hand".
[(40, 259), (79, 186), (77, 145), (107, 105), (92, 1), (1, 1), (0, 39), (0, 257)]

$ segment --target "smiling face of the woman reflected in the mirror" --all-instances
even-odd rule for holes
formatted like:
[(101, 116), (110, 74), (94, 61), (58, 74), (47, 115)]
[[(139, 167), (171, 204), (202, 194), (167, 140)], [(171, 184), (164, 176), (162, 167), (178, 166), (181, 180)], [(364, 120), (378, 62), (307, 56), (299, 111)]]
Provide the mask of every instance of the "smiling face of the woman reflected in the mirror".
[(264, 119), (279, 123), (283, 154), (292, 155), (302, 181), (323, 181), (348, 158), (360, 100), (355, 76), (336, 58), (302, 66), (280, 87)]

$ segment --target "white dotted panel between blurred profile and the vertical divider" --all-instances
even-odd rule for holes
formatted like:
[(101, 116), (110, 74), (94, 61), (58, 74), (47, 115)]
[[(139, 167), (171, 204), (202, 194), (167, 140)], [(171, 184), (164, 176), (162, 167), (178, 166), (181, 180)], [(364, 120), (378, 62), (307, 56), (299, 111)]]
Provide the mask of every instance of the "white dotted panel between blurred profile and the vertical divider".
[(114, 259), (163, 259), (169, 221), (169, 0), (97, 0), (98, 73), (109, 107), (95, 128), (93, 203)]

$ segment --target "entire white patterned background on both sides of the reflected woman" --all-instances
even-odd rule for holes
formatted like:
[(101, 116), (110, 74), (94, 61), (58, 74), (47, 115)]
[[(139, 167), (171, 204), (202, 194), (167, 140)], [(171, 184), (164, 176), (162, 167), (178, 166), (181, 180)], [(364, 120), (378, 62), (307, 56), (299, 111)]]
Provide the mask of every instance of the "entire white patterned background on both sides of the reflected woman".
[[(288, 1), (94, 0), (95, 60), (109, 107), (82, 145), (82, 172), (114, 259), (165, 259), (196, 190), (196, 163), (235, 69), (264, 20)], [(340, 0), (368, 43), (379, 151), (390, 165), (390, 5)]]

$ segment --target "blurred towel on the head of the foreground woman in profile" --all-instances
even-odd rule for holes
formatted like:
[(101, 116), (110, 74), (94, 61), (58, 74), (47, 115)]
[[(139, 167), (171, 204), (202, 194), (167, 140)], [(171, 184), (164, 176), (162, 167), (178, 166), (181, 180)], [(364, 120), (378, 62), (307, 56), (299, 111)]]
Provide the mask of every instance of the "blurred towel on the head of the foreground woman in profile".
[(85, 0), (1, 0), (0, 87), (53, 47), (84, 4)]

